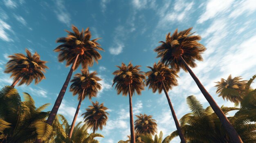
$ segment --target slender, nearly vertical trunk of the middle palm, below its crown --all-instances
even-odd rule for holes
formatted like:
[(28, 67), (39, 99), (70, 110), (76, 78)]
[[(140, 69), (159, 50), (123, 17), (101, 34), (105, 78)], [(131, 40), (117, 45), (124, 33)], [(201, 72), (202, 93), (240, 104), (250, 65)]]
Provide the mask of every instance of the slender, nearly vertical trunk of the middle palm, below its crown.
[(129, 84), (129, 103), (130, 103), (130, 132), (131, 132), (131, 142), (135, 143), (135, 130), (133, 124), (133, 114), (132, 114), (132, 95), (131, 95), (131, 87)]

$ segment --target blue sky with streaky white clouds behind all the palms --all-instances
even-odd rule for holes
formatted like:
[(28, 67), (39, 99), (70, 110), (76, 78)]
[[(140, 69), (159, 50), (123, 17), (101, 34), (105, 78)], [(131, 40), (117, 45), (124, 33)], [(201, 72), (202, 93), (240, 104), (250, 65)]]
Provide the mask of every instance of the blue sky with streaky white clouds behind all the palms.
[[(74, 24), (80, 30), (90, 27), (92, 38), (99, 40), (105, 52), (102, 59), (90, 71), (97, 70), (103, 89), (92, 101), (104, 102), (110, 113), (107, 126), (98, 131), (105, 138), (102, 143), (117, 143), (126, 140), (129, 129), (129, 99), (117, 95), (112, 85), (112, 72), (121, 62), (152, 66), (157, 53), (153, 51), (159, 41), (165, 40), (168, 32), (187, 29), (202, 36), (200, 41), (206, 46), (204, 62), (197, 62), (193, 71), (211, 93), (219, 106), (233, 106), (215, 94), (215, 81), (220, 78), (243, 76), (249, 79), (256, 69), (256, 2), (255, 0), (2, 0), (0, 2), (0, 87), (10, 85), (12, 79), (3, 73), (13, 53), (25, 53), (25, 48), (37, 51), (42, 60), (48, 61), (46, 79), (38, 85), (19, 86), (20, 94), (28, 92), (36, 101), (36, 106), (51, 103), (60, 91), (70, 68), (59, 63), (58, 46), (55, 40), (65, 37), (64, 29), (71, 30)], [(80, 69), (74, 71), (79, 73)], [(204, 107), (209, 106), (189, 73), (181, 71), (179, 86), (169, 91), (177, 117), (189, 112), (186, 97), (195, 95)], [(253, 84), (255, 87), (255, 84)], [(151, 114), (157, 120), (158, 131), (167, 136), (175, 130), (166, 97), (144, 90), (141, 96), (132, 98), (133, 113)], [(66, 92), (58, 113), (71, 123), (78, 100), (71, 92)], [(79, 114), (90, 105), (85, 99)], [(82, 117), (78, 121), (82, 121)], [(135, 118), (136, 119), (136, 118)], [(172, 143), (179, 143), (175, 138)]]

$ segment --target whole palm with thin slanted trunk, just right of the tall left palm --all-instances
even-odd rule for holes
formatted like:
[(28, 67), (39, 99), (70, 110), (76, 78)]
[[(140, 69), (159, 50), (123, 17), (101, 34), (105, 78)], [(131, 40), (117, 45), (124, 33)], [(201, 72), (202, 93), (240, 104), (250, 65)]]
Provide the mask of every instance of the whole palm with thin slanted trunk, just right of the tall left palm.
[(75, 77), (71, 80), (71, 82), (73, 83), (70, 86), (70, 91), (73, 92), (73, 95), (79, 95), (79, 103), (71, 124), (69, 138), (71, 138), (72, 136), (81, 102), (85, 99), (85, 97), (88, 97), (90, 100), (92, 99), (92, 97), (97, 97), (98, 91), (101, 90), (101, 84), (98, 83), (98, 81), (101, 81), (101, 79), (96, 76), (96, 71), (89, 73), (89, 70), (81, 70), (81, 72), (82, 74), (77, 73)]

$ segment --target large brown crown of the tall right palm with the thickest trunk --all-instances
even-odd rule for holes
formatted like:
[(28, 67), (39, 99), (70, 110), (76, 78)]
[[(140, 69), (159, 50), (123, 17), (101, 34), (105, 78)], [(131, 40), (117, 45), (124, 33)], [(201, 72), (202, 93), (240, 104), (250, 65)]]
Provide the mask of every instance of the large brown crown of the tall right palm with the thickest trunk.
[(193, 35), (191, 30), (192, 27), (180, 32), (176, 29), (173, 35), (171, 33), (166, 35), (166, 42), (160, 41), (162, 44), (155, 48), (154, 51), (157, 52), (157, 57), (161, 58), (161, 62), (165, 63), (165, 65), (171, 65), (171, 68), (175, 70), (179, 71), (182, 68), (187, 72), (180, 56), (192, 68), (197, 66), (195, 60), (203, 61), (201, 54), (206, 48), (198, 42), (201, 37)]

